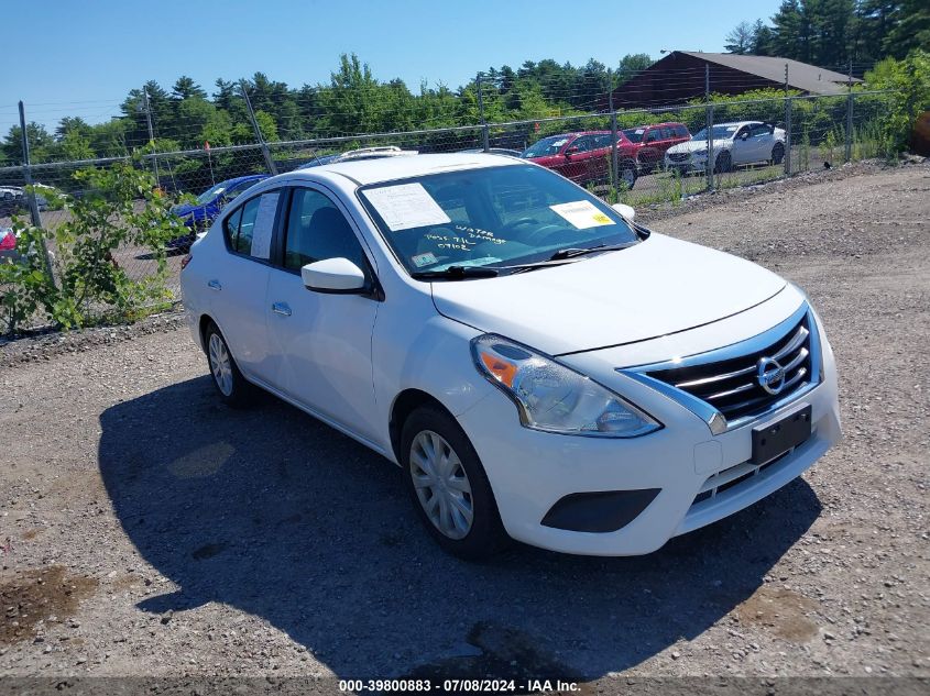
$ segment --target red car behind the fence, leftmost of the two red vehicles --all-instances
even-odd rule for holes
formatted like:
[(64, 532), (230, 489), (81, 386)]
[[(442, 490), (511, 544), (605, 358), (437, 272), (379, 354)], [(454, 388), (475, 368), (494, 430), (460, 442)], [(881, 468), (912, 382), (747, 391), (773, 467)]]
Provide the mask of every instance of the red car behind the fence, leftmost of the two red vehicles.
[[(610, 131), (564, 133), (536, 141), (521, 157), (558, 172), (576, 184), (605, 181), (610, 178), (611, 143)], [(623, 132), (617, 133), (619, 174), (627, 189), (633, 188), (637, 176), (632, 145)]]

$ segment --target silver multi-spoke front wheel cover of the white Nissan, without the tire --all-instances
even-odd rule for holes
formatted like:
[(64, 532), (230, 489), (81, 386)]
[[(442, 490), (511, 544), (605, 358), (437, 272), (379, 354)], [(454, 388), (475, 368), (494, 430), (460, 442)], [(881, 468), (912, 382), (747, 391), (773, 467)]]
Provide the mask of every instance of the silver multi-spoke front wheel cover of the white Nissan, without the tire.
[(411, 443), (411, 477), (426, 517), (449, 539), (471, 530), (474, 502), (462, 462), (442, 435), (423, 430)]

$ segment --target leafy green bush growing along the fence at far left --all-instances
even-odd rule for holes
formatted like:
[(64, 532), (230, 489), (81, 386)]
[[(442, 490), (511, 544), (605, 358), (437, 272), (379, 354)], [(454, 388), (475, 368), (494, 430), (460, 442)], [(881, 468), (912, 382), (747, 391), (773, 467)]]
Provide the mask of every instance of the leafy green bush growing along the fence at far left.
[[(9, 333), (44, 318), (69, 329), (101, 318), (132, 319), (169, 295), (165, 286), (165, 243), (180, 232), (172, 200), (155, 190), (155, 180), (138, 163), (81, 169), (74, 177), (81, 198), (55, 196), (68, 213), (53, 232), (15, 219), (19, 259), (0, 264), (0, 308)], [(155, 261), (156, 272), (131, 278), (113, 252), (133, 246)], [(48, 275), (45, 246), (54, 247)]]

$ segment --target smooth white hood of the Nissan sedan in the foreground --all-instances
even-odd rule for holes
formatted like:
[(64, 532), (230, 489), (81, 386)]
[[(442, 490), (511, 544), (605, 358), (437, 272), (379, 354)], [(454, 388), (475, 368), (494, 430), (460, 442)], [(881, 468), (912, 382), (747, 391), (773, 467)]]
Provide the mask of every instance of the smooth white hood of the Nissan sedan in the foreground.
[(560, 355), (708, 324), (785, 285), (748, 261), (653, 233), (630, 248), (561, 266), (437, 281), (433, 299), (450, 319)]

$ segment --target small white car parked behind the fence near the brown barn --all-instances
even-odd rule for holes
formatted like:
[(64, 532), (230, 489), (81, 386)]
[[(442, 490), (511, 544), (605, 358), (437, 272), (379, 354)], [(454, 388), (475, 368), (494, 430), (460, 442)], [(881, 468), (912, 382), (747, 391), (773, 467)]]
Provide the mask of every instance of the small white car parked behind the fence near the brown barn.
[[(713, 126), (714, 172), (735, 166), (785, 159), (785, 131), (762, 121), (737, 121)], [(702, 129), (687, 143), (672, 145), (665, 153), (665, 167), (679, 174), (704, 172), (708, 166), (708, 130)]]

